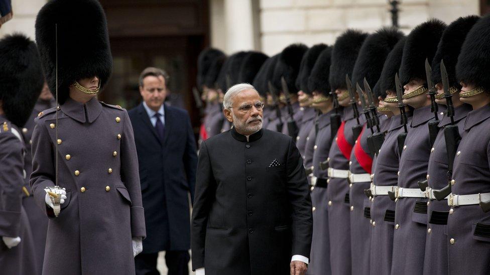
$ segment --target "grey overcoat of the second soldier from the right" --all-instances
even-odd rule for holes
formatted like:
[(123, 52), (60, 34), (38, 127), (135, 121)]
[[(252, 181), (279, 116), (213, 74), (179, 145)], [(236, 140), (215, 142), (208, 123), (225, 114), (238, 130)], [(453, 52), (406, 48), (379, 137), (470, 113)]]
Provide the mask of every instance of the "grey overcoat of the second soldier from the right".
[[(454, 110), (454, 122), (458, 125), (459, 134), (464, 132), (464, 119), (471, 106), (460, 105)], [(450, 179), (447, 174), (447, 150), (444, 138), (444, 126), (449, 125), (450, 118), (444, 116), (439, 123), (441, 130), (437, 134), (434, 145), (431, 148), (429, 166), (427, 168), (427, 183), (433, 189), (441, 189), (447, 186)], [(447, 216), (449, 215), (449, 205), (447, 200), (429, 200), (427, 205), (427, 238), (425, 241), (424, 274), (448, 273), (447, 269)], [(430, 231), (429, 231), (430, 229)]]

